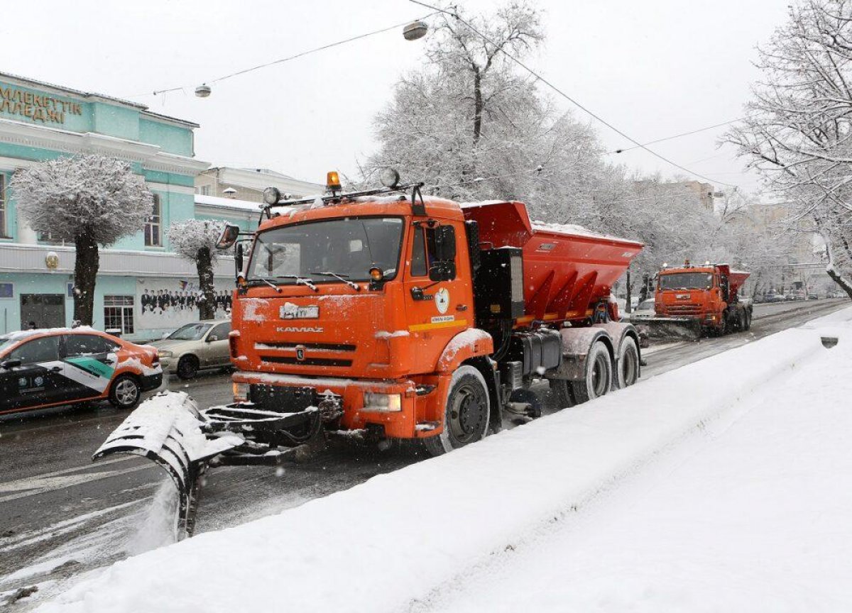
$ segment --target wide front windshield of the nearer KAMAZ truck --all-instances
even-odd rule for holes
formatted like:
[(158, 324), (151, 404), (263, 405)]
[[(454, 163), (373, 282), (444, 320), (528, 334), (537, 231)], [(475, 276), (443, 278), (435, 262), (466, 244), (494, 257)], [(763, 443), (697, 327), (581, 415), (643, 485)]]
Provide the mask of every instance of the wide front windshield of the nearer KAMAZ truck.
[[(257, 235), (246, 280), (296, 284), (295, 275), (314, 283), (370, 280), (377, 266), (385, 279), (396, 276), (402, 243), (400, 217), (347, 217), (281, 226)], [(323, 273), (323, 274), (320, 274)]]

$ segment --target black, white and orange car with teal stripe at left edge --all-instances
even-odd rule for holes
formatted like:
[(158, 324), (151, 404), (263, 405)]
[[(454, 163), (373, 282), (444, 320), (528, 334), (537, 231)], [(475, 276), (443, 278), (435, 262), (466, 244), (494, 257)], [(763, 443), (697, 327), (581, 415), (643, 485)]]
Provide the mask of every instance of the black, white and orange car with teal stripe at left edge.
[(109, 400), (132, 409), (163, 381), (157, 351), (90, 328), (0, 335), (0, 414)]

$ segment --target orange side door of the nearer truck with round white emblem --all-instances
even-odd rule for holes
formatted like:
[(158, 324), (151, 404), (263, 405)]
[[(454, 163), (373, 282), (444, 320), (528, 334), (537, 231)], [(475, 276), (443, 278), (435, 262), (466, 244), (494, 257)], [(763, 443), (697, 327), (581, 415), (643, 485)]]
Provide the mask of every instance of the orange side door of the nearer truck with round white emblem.
[[(435, 254), (435, 232), (440, 226), (425, 223), (409, 227), (406, 253), (405, 291), (408, 333), (412, 341), (416, 372), (432, 372), (446, 344), (463, 329), (473, 325), (470, 284), (463, 275), (469, 266), (462, 262), (463, 249), (458, 249), (452, 262), (440, 262)], [(456, 226), (446, 225), (446, 227)], [(462, 230), (463, 232), (463, 230)], [(446, 237), (446, 232), (444, 232)], [(454, 232), (456, 244), (463, 233)], [(431, 236), (430, 236), (431, 235)], [(454, 274), (439, 281), (429, 278), (429, 270), (452, 263)]]

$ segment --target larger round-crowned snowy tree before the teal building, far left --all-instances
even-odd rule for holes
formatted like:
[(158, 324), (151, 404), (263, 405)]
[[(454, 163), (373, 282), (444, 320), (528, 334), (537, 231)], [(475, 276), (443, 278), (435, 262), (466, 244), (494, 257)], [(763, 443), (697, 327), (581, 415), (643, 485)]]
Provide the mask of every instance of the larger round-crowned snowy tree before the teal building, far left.
[(33, 230), (74, 243), (74, 319), (92, 324), (98, 247), (142, 229), (153, 209), (145, 181), (128, 162), (83, 155), (20, 169), (9, 186)]

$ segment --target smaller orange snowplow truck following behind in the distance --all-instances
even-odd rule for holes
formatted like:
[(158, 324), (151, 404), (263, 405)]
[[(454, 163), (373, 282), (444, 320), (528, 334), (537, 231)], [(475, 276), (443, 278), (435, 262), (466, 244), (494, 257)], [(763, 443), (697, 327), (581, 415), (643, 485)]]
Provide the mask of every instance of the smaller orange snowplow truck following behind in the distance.
[(728, 264), (663, 265), (654, 294), (655, 317), (637, 324), (650, 338), (698, 340), (751, 327), (751, 301), (740, 299), (748, 272)]

